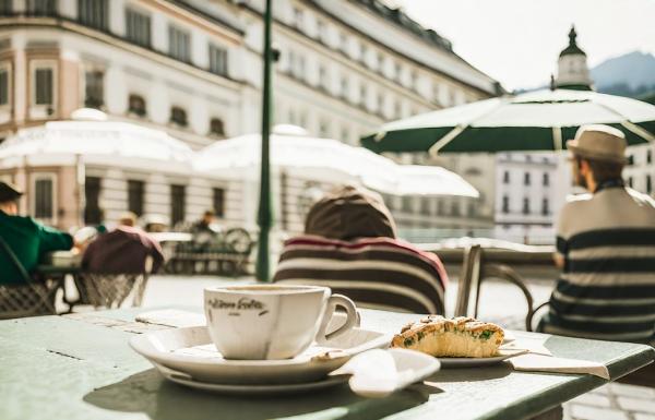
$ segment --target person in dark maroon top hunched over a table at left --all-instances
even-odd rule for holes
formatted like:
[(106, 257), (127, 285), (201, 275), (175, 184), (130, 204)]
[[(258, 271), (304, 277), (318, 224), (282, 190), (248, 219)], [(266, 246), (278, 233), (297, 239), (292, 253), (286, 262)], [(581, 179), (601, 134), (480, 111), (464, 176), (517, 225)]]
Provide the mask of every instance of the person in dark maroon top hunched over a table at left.
[[(121, 216), (116, 229), (99, 236), (86, 248), (82, 269), (102, 274), (155, 273), (159, 269), (164, 262), (162, 247), (135, 225), (133, 213)], [(151, 257), (152, 267), (146, 267)]]

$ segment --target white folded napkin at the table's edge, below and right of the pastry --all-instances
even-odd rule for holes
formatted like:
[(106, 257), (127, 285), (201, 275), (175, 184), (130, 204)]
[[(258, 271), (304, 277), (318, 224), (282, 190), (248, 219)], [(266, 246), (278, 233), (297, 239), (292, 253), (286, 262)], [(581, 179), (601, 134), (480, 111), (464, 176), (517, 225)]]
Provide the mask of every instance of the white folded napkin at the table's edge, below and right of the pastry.
[(587, 360), (557, 358), (527, 353), (509, 359), (515, 370), (551, 373), (588, 373), (609, 381), (609, 372), (603, 363)]

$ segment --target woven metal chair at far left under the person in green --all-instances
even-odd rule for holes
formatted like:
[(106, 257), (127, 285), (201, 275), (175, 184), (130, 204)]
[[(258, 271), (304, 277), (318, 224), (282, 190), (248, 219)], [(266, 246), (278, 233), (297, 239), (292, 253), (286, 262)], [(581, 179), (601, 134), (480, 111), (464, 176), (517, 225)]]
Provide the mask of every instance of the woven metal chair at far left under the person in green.
[(60, 284), (52, 280), (35, 281), (2, 237), (0, 252), (20, 276), (19, 284), (0, 285), (0, 320), (56, 314), (55, 298)]

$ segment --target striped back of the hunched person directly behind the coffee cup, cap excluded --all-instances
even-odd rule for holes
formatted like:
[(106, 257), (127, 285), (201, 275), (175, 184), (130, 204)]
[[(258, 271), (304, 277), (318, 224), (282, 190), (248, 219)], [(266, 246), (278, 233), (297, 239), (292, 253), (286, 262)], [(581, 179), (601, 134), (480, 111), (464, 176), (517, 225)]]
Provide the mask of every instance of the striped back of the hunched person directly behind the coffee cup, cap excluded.
[(286, 241), (276, 283), (327, 286), (364, 308), (443, 314), (448, 277), (439, 259), (391, 238)]

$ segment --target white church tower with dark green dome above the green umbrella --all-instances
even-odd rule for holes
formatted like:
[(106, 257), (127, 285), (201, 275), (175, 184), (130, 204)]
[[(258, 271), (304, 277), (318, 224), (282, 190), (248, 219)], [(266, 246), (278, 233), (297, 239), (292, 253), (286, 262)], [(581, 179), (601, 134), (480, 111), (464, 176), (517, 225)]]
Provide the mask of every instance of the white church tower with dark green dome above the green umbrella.
[(575, 27), (569, 32), (569, 46), (560, 52), (555, 86), (562, 89), (593, 91), (586, 53), (575, 44)]

